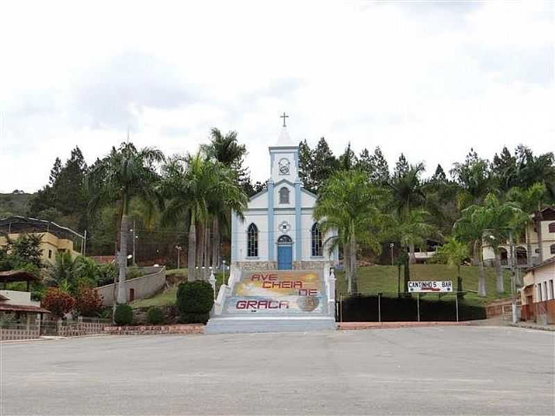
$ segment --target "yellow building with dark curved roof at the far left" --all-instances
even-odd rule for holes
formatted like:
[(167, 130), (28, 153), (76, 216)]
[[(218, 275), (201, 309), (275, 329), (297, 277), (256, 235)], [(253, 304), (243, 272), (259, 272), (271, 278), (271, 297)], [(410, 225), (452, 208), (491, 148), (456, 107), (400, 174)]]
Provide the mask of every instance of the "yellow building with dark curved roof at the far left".
[(58, 252), (69, 251), (75, 258), (85, 249), (85, 236), (51, 221), (24, 216), (0, 218), (0, 247), (6, 245), (8, 238), (17, 240), (23, 234), (41, 236), (40, 250), (44, 264), (54, 263)]

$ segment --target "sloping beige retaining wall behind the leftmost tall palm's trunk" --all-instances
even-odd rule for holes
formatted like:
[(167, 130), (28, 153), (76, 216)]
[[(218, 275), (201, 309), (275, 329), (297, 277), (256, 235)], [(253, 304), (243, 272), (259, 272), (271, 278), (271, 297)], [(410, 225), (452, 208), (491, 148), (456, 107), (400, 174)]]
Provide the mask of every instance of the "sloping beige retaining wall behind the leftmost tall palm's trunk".
[[(145, 269), (149, 274), (126, 281), (128, 300), (144, 299), (145, 297), (155, 295), (155, 293), (160, 291), (166, 284), (165, 267), (140, 268), (141, 271)], [(114, 285), (112, 283), (94, 289), (103, 298), (103, 306), (112, 306), (112, 304), (114, 304), (114, 295), (117, 295), (117, 286), (117, 284)]]

